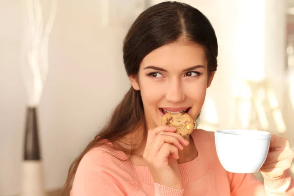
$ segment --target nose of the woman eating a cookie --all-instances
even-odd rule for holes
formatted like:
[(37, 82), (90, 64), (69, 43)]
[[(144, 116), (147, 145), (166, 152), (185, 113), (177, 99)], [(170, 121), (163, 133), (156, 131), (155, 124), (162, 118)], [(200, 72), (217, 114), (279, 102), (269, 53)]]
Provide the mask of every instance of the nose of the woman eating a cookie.
[(172, 80), (169, 82), (169, 87), (166, 89), (166, 99), (169, 102), (182, 102), (186, 98), (182, 88), (182, 84), (179, 80)]

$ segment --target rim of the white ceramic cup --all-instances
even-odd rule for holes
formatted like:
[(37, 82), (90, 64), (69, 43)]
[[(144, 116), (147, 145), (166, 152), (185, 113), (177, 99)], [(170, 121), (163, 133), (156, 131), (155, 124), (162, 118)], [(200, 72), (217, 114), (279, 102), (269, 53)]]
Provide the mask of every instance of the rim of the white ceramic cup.
[[(241, 134), (241, 132), (245, 131), (255, 131), (260, 134)], [(239, 132), (236, 133), (236, 132)], [(215, 136), (226, 136), (226, 137), (234, 137), (234, 138), (246, 138), (246, 139), (269, 139), (271, 137), (270, 132), (267, 131), (261, 131), (261, 130), (255, 130), (255, 129), (220, 129), (215, 132)]]

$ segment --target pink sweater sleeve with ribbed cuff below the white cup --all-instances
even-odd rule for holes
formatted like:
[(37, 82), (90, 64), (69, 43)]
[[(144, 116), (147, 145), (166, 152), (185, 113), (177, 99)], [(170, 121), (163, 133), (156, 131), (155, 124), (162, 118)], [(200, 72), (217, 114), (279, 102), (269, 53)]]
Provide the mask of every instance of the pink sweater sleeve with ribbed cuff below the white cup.
[(276, 179), (263, 174), (264, 184), (251, 173), (228, 172), (231, 196), (294, 196), (294, 182), (290, 171)]

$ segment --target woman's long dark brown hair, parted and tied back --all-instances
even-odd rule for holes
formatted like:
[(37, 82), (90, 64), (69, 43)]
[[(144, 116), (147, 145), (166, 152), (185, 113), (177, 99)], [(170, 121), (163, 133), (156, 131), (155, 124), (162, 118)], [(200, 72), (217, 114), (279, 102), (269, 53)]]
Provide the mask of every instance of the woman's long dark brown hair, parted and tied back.
[[(149, 52), (180, 39), (203, 47), (208, 71), (217, 70), (218, 43), (209, 20), (188, 4), (165, 1), (149, 7), (129, 28), (123, 42), (123, 63), (127, 75), (138, 73), (141, 61)], [(131, 154), (137, 149), (130, 150), (115, 144), (138, 129), (143, 130), (143, 138), (147, 136), (141, 94), (131, 87), (114, 110), (109, 122), (73, 161), (64, 185), (64, 193), (69, 193), (77, 167), (91, 148), (107, 140), (118, 150)]]

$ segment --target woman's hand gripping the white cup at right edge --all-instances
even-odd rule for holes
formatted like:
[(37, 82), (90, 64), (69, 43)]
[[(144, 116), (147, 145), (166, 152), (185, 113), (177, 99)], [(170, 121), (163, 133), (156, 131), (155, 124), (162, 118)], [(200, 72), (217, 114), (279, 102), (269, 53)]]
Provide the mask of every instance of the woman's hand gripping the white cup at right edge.
[(271, 134), (270, 149), (260, 171), (270, 178), (278, 178), (292, 167), (294, 150), (286, 138)]

